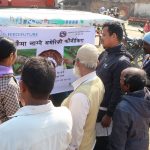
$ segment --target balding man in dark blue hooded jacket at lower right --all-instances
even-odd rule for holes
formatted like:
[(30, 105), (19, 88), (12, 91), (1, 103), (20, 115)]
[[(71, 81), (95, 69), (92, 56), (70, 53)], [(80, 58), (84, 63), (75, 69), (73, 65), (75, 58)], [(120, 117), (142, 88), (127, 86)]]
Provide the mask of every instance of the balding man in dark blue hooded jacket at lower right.
[(148, 150), (150, 91), (144, 88), (146, 72), (127, 68), (120, 77), (121, 89), (127, 92), (116, 107), (109, 150)]

